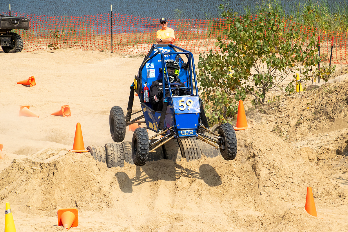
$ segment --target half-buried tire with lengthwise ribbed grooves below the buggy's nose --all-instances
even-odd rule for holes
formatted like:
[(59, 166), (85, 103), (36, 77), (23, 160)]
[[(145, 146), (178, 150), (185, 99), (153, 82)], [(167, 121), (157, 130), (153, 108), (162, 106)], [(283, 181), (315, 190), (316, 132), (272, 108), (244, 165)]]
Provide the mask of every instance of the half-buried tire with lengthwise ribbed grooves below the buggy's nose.
[(178, 139), (182, 157), (187, 161), (198, 160), (202, 158), (202, 152), (195, 138)]

